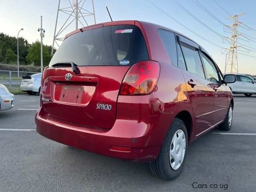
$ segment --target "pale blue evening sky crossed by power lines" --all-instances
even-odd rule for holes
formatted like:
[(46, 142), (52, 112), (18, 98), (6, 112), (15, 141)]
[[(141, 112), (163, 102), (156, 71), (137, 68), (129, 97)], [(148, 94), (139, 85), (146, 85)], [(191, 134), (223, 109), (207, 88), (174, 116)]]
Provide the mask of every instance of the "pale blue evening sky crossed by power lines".
[[(78, 0), (78, 2), (79, 1), (80, 0)], [(184, 12), (184, 10), (182, 10), (182, 8), (180, 8), (174, 2), (174, 0), (151, 1), (164, 12), (166, 12), (166, 14), (180, 22), (182, 25), (186, 26), (186, 28), (156, 8), (156, 6), (154, 6), (148, 0), (94, 0), (96, 23), (110, 21), (108, 12), (106, 10), (106, 6), (108, 6), (113, 20), (141, 20), (171, 28), (188, 36), (200, 44), (212, 56), (214, 61), (218, 64), (220, 70), (224, 72), (226, 54), (222, 54), (222, 48), (229, 47), (230, 45), (223, 43), (223, 38), (218, 36), (215, 32), (221, 34), (222, 36), (230, 36), (229, 33), (224, 32), (224, 25), (222, 23), (226, 25), (232, 24), (232, 19), (227, 19), (229, 17), (228, 14), (234, 15), (246, 12), (246, 14), (239, 16), (238, 20), (243, 22), (251, 29), (247, 30), (245, 29), (245, 26), (245, 28), (238, 26), (238, 31), (242, 32), (244, 36), (248, 35), (252, 38), (250, 38), (251, 40), (247, 42), (244, 41), (245, 38), (242, 37), (244, 40), (238, 39), (238, 45), (242, 43), (246, 45), (246, 48), (249, 46), (250, 48), (248, 49), (251, 51), (239, 51), (240, 53), (247, 54), (249, 56), (241, 54), (237, 55), (238, 72), (256, 75), (255, 0), (243, 0), (242, 3), (240, 0), (178, 1), (182, 6), (184, 6), (184, 8), (191, 12), (192, 15), (198, 18), (200, 21)], [(72, 3), (72, 0), (70, 0), (70, 2)], [(198, 6), (198, 4), (196, 4), (196, 2), (199, 2), (207, 10), (209, 10), (211, 14), (220, 20), (220, 22), (204, 12)], [(220, 6), (218, 6), (218, 4)], [(69, 1), (61, 0), (60, 8), (66, 7), (70, 7)], [(86, 0), (83, 8), (92, 12), (91, 0)], [(58, 0), (0, 0), (0, 32), (10, 36), (17, 36), (19, 30), (24, 28), (24, 30), (20, 32), (19, 36), (27, 39), (29, 43), (35, 42), (36, 40), (40, 40), (40, 32), (38, 32), (37, 29), (40, 27), (40, 16), (43, 16), (43, 28), (46, 31), (43, 43), (52, 45), (57, 10)], [(56, 32), (60, 30), (61, 26), (64, 24), (67, 18), (68, 14), (59, 12)], [(80, 20), (82, 23), (84, 23), (82, 18), (80, 18)], [(71, 20), (69, 19), (68, 21), (70, 22)], [(94, 24), (93, 16), (87, 16), (86, 21), (89, 25)], [(84, 23), (84, 25), (86, 24)], [(78, 28), (80, 27), (82, 27), (82, 24), (78, 23)], [(215, 32), (212, 32), (209, 28)], [(58, 37), (64, 37), (67, 33), (73, 30), (75, 30), (75, 22), (71, 23), (70, 26), (68, 26)], [(214, 44), (217, 44), (222, 48), (209, 43), (196, 34), (204, 37), (205, 39), (213, 42)], [(54, 44), (54, 47), (58, 48), (56, 43)], [(240, 50), (244, 49), (240, 48)]]

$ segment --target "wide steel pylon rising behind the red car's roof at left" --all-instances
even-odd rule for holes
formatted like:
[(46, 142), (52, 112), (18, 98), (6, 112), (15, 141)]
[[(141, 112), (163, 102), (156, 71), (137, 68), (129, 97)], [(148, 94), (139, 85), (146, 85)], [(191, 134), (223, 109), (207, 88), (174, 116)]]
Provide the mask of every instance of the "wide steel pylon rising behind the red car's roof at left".
[[(86, 17), (93, 16), (94, 24), (96, 24), (95, 20), (95, 13), (94, 13), (94, 3), (93, 0), (65, 0), (64, 2), (68, 2), (70, 4), (69, 7), (60, 8), (60, 0), (58, 2), (58, 11), (56, 16), (56, 23), (55, 23), (55, 29), (54, 29), (54, 36), (53, 36), (53, 42), (52, 42), (52, 54), (54, 49), (54, 42), (59, 46), (57, 41), (63, 41), (64, 35), (62, 37), (59, 37), (70, 24), (75, 22), (75, 29), (78, 29), (78, 22), (82, 26), (88, 26), (88, 22), (86, 21)], [(87, 5), (85, 5), (85, 2), (87, 2)], [(88, 5), (88, 3), (91, 3)], [(89, 11), (88, 9), (91, 7), (92, 11)], [(86, 8), (86, 9), (85, 9)], [(63, 12), (68, 15), (65, 22), (58, 26), (58, 19), (59, 19), (59, 12)], [(63, 18), (63, 17), (62, 17)], [(62, 19), (60, 18), (60, 19)], [(56, 29), (58, 26), (58, 32), (56, 33)]]

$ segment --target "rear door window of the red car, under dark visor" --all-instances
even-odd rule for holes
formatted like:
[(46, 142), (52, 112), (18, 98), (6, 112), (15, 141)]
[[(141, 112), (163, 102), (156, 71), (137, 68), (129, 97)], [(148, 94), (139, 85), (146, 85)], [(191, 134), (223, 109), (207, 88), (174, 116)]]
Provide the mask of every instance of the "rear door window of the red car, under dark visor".
[(204, 68), (198, 50), (184, 42), (180, 42), (180, 46), (184, 54), (188, 71), (205, 79)]

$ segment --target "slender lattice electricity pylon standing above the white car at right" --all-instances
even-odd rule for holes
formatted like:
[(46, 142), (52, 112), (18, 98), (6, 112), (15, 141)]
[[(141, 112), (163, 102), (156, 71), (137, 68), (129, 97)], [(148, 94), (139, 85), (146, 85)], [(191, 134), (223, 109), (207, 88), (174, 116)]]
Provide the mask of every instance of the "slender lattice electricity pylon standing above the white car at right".
[[(241, 39), (244, 41), (249, 41), (248, 38), (243, 36), (242, 34), (238, 33), (237, 28), (238, 25), (243, 24), (242, 22), (238, 21), (238, 16), (245, 14), (245, 13), (240, 13), (234, 16), (229, 17), (228, 19), (233, 18), (233, 24), (229, 26), (224, 26), (226, 29), (224, 31), (230, 32), (231, 36), (225, 37), (226, 39), (224, 40), (224, 43), (228, 42), (230, 44), (230, 47), (227, 47), (224, 49), (222, 53), (226, 53), (226, 64), (225, 64), (225, 73), (238, 73), (238, 60), (237, 60), (237, 50), (244, 51), (244, 52), (250, 52), (250, 50), (237, 45), (237, 39)], [(246, 25), (243, 24), (241, 26), (247, 30), (248, 28)], [(243, 37), (243, 38), (242, 38)], [(244, 50), (242, 50), (244, 49)]]

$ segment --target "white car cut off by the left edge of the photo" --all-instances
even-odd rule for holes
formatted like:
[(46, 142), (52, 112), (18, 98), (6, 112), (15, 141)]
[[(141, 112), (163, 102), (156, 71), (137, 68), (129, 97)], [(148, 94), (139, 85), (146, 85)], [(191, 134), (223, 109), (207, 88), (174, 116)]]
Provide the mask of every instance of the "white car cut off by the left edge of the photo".
[(14, 94), (10, 93), (6, 86), (0, 84), (0, 111), (13, 108), (13, 102)]

